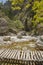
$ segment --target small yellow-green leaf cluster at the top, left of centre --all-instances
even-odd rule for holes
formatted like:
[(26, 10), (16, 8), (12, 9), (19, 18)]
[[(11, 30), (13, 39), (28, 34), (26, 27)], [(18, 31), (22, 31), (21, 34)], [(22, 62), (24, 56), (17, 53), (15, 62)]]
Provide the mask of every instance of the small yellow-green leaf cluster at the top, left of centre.
[(12, 10), (21, 10), (21, 4), (24, 0), (10, 0), (12, 4)]

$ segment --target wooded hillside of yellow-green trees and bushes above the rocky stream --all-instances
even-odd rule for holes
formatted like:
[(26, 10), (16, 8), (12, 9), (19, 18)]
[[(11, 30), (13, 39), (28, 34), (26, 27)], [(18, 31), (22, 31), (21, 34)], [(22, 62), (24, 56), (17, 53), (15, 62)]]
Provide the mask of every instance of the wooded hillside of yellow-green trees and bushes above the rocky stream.
[(6, 19), (9, 29), (43, 34), (43, 0), (0, 2), (0, 18)]

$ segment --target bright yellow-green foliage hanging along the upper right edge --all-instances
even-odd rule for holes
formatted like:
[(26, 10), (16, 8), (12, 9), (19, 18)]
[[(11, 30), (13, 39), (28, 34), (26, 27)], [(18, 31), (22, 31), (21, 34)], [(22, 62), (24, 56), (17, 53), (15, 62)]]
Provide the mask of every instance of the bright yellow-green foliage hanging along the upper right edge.
[(34, 1), (32, 10), (35, 13), (33, 18), (34, 25), (43, 22), (43, 0), (40, 2), (38, 0)]

